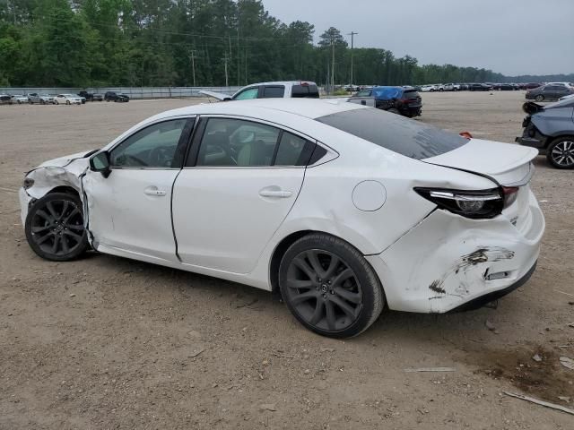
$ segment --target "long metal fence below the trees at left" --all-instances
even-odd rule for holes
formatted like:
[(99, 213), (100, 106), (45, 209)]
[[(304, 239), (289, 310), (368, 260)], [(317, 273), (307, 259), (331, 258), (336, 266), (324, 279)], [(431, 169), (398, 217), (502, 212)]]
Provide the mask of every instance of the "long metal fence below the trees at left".
[(107, 91), (114, 91), (118, 94), (127, 94), (130, 99), (183, 99), (187, 97), (204, 97), (200, 90), (222, 92), (223, 94), (233, 94), (241, 87), (89, 87), (89, 88), (5, 88), (0, 87), (0, 94), (10, 96), (16, 94), (29, 94), (37, 92), (39, 94), (77, 94), (81, 90), (94, 93), (105, 94)]

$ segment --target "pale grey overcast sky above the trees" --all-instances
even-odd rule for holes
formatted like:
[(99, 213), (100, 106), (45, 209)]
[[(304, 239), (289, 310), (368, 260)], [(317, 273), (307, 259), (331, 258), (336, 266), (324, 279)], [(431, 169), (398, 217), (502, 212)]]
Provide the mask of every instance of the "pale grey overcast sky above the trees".
[[(506, 75), (574, 73), (574, 0), (263, 0), (285, 23), (356, 31), (419, 64), (484, 67)], [(351, 45), (351, 37), (348, 38)]]

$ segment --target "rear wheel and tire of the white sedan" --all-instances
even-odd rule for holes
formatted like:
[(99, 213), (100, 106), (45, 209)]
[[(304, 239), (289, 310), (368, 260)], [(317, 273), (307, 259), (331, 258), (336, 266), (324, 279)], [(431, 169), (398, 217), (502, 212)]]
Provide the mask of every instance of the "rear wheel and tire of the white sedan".
[(352, 245), (323, 233), (303, 236), (287, 249), (279, 288), (301, 324), (330, 338), (357, 336), (377, 321), (385, 305), (369, 262)]

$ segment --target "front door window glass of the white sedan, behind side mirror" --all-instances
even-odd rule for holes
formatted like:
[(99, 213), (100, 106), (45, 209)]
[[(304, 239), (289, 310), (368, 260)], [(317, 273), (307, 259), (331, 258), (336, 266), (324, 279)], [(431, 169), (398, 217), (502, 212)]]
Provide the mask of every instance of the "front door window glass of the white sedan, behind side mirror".
[(171, 168), (187, 119), (145, 127), (110, 152), (110, 166), (117, 168)]

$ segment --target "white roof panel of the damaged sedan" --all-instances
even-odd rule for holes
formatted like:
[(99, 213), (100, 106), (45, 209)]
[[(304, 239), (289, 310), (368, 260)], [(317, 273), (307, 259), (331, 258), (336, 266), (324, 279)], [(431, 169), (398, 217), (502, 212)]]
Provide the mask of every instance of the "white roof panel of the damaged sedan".
[[(291, 115), (304, 116), (315, 119), (320, 116), (332, 115), (346, 110), (365, 108), (356, 103), (348, 103), (346, 99), (250, 99), (233, 102), (222, 101), (217, 103), (203, 103), (200, 105), (180, 107), (178, 109), (162, 112), (153, 119), (168, 118), (170, 116), (186, 115), (239, 115), (263, 116), (265, 112), (283, 112)], [(150, 118), (150, 119), (152, 119)]]

